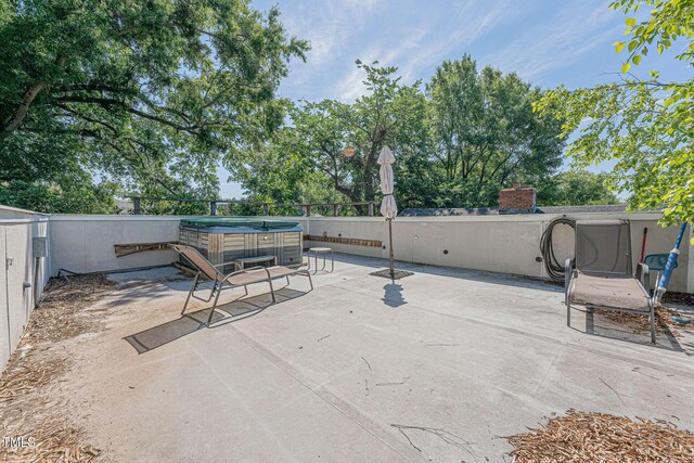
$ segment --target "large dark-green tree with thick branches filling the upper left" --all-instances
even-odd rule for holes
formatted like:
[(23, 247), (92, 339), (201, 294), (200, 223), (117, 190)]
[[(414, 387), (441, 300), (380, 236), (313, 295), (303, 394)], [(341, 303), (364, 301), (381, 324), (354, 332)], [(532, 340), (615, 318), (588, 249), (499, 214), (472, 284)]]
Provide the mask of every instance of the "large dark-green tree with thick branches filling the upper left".
[(216, 195), (222, 154), (283, 121), (274, 92), (308, 44), (279, 15), (248, 0), (0, 0), (3, 188), (99, 176)]

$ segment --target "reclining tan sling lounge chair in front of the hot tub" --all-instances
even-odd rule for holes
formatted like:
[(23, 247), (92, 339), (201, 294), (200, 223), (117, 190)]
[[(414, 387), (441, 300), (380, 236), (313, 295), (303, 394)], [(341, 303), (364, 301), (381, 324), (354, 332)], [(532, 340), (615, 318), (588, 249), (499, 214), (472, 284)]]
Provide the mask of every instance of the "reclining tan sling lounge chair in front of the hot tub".
[[(277, 303), (277, 298), (274, 296), (274, 287), (272, 287), (272, 280), (286, 278), (286, 284), (290, 284), (290, 276), (305, 275), (308, 276), (309, 284), (311, 285), (311, 291), (313, 291), (311, 274), (308, 272), (308, 270), (305, 269), (290, 269), (288, 267), (282, 266), (252, 267), (248, 269), (241, 269), (224, 274), (219, 271), (219, 268), (223, 268), (224, 266), (228, 266), (232, 262), (224, 262), (214, 266), (194, 247), (185, 246), (182, 244), (175, 244), (171, 245), (171, 248), (179, 253), (181, 256), (185, 257), (185, 259), (193, 267), (195, 267), (195, 269), (197, 269), (197, 274), (195, 274), (195, 279), (193, 280), (193, 284), (191, 285), (191, 291), (188, 293), (188, 297), (185, 298), (185, 304), (183, 305), (181, 314), (185, 313), (185, 309), (188, 308), (188, 303), (191, 300), (191, 297), (194, 297), (195, 299), (202, 300), (204, 303), (209, 303), (213, 297), (215, 298), (213, 307), (209, 311), (209, 317), (207, 318), (207, 327), (209, 327), (209, 324), (213, 321), (213, 316), (215, 314), (215, 309), (217, 308), (217, 301), (219, 300), (219, 294), (223, 290), (233, 290), (243, 286), (245, 295), (247, 296), (247, 286), (249, 284), (267, 282), (270, 286), (272, 301)], [(197, 285), (201, 283), (201, 276), (214, 282), (207, 299), (195, 296)]]

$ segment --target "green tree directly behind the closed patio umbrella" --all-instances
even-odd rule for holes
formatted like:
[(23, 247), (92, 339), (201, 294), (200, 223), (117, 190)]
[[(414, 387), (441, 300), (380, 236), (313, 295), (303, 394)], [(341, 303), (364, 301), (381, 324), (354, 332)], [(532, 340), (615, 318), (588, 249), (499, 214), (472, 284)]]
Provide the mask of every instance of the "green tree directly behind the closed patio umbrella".
[[(256, 193), (270, 189), (277, 200), (286, 197), (292, 189), (290, 196), (297, 197), (298, 185), (306, 192), (308, 185), (320, 182), (325, 200), (373, 201), (380, 196), (376, 160), (381, 149), (388, 145), (398, 157), (398, 197), (424, 197), (401, 190), (404, 184), (425, 179), (420, 173), (427, 147), (426, 102), (419, 82), (401, 85), (394, 76), (395, 67), (359, 61), (357, 66), (365, 73), (365, 95), (351, 104), (333, 100), (303, 102), (290, 111), (290, 126), (271, 145), (249, 157), (227, 158), (227, 167), (247, 190)], [(347, 147), (354, 150), (352, 156), (345, 156)], [(268, 185), (260, 187), (258, 179)]]

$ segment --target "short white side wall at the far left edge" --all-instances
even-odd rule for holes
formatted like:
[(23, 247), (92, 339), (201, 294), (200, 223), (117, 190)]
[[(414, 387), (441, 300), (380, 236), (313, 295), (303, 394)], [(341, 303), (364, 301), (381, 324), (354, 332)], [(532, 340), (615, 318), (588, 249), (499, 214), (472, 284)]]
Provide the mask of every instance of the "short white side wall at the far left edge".
[[(0, 206), (0, 371), (49, 279), (48, 216)], [(34, 239), (43, 239), (35, 245)]]

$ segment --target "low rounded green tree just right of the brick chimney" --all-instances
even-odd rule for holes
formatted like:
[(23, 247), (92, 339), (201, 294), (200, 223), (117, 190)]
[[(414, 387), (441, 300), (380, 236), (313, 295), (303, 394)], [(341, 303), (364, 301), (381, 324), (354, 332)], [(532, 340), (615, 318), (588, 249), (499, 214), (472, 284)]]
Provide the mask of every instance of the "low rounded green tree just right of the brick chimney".
[(538, 185), (539, 206), (584, 206), (590, 204), (618, 204), (609, 191), (606, 173), (568, 170), (549, 178)]

